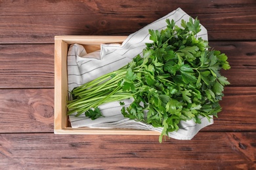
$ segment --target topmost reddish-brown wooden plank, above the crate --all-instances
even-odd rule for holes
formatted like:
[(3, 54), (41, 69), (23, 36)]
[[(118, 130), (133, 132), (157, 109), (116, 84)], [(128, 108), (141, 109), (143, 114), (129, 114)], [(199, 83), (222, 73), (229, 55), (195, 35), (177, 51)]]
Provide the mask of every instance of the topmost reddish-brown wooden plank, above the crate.
[[(210, 40), (255, 40), (256, 1), (1, 1), (0, 43), (53, 43), (54, 35), (129, 35), (181, 7)], [(192, 8), (194, 7), (194, 8)]]

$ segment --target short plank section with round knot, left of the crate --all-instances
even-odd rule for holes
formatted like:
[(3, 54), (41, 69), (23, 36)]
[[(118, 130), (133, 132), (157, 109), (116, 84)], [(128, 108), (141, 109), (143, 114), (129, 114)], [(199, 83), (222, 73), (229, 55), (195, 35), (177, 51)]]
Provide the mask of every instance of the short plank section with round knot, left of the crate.
[(0, 133), (53, 132), (54, 90), (0, 90)]

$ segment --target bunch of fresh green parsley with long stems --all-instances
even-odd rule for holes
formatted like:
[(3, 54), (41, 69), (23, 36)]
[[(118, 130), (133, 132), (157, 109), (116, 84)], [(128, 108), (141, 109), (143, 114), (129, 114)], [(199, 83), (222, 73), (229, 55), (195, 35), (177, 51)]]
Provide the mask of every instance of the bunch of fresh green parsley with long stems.
[(140, 55), (117, 71), (100, 76), (72, 90), (68, 114), (85, 113), (91, 119), (102, 114), (104, 103), (133, 98), (121, 109), (123, 116), (163, 127), (163, 135), (179, 129), (179, 122), (200, 116), (208, 119), (221, 111), (219, 101), (223, 88), (229, 84), (221, 76), (221, 69), (230, 69), (225, 54), (210, 50), (208, 42), (197, 37), (200, 22), (192, 18), (182, 20), (181, 27), (174, 20), (166, 20), (161, 31), (149, 30), (150, 40)]

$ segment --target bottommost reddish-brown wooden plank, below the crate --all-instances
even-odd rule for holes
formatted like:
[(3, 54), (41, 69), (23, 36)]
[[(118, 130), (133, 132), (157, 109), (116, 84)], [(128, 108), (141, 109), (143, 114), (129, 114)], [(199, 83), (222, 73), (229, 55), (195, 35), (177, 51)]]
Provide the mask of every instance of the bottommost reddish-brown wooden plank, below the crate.
[(3, 169), (255, 169), (256, 133), (156, 136), (0, 135)]

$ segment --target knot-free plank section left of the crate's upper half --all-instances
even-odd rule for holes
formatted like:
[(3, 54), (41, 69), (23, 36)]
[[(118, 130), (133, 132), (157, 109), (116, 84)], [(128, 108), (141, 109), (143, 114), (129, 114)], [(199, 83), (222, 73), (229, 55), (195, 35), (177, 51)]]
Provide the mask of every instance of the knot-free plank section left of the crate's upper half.
[(54, 45), (0, 45), (1, 88), (53, 88)]

